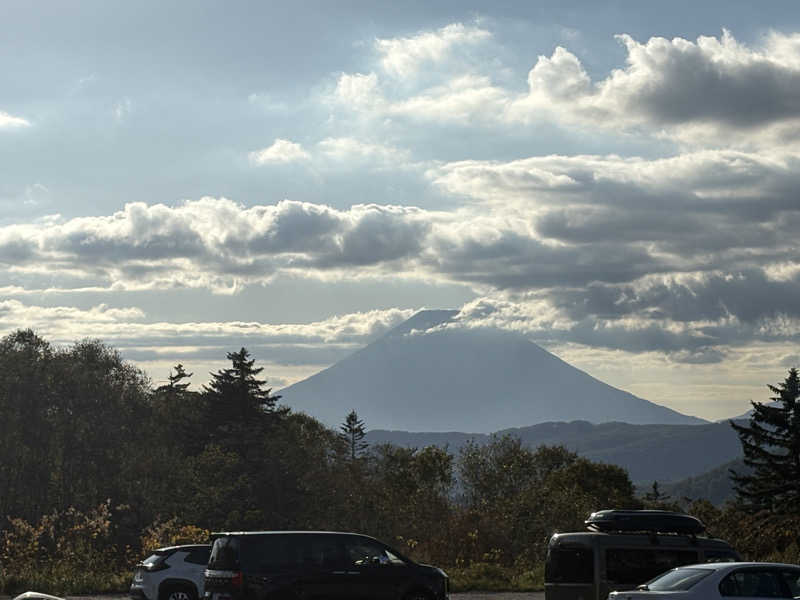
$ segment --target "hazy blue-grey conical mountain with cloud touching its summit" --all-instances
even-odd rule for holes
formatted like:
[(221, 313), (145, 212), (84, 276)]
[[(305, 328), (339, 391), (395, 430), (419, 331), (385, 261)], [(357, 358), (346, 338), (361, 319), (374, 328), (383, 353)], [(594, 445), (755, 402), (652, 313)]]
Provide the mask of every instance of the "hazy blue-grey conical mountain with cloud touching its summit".
[(488, 433), (585, 420), (697, 424), (702, 419), (614, 388), (524, 336), (447, 327), (458, 311), (422, 311), (379, 340), (280, 391), (338, 427), (355, 410), (369, 429)]

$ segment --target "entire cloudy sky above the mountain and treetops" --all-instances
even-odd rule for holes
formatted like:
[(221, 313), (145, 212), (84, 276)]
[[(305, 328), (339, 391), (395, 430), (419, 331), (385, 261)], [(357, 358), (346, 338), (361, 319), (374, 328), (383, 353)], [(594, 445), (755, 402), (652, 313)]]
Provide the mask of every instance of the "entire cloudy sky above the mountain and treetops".
[(9, 0), (0, 334), (277, 390), (458, 309), (730, 417), (800, 363), (798, 167), (794, 2)]

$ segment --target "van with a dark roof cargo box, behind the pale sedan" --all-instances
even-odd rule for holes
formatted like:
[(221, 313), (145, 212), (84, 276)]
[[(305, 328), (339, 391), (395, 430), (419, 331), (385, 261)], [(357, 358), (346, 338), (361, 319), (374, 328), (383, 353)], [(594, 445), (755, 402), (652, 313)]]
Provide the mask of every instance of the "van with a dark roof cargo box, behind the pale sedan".
[(674, 567), (741, 560), (723, 540), (698, 535), (695, 517), (667, 511), (599, 511), (589, 531), (550, 538), (546, 600), (605, 600)]

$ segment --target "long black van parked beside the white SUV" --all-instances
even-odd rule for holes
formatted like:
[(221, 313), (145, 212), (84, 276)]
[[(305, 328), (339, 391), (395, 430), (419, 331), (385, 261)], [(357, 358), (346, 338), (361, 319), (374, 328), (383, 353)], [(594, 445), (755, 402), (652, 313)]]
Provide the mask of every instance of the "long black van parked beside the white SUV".
[(355, 533), (214, 533), (205, 600), (447, 600), (441, 569)]

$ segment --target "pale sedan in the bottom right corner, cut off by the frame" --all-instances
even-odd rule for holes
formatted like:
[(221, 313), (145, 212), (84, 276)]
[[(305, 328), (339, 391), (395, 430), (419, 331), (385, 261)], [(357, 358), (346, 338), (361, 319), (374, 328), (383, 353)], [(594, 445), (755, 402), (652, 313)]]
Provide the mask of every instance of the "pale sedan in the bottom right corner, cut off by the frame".
[(662, 573), (609, 600), (717, 600), (800, 597), (800, 566), (781, 563), (705, 563)]

